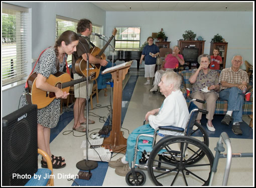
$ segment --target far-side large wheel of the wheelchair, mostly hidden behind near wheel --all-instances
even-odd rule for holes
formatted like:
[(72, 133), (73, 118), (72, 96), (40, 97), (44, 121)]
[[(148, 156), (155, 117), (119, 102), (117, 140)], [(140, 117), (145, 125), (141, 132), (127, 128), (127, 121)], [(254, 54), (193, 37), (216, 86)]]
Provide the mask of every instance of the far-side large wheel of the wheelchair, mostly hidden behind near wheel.
[[(198, 122), (195, 122), (195, 126), (197, 126), (197, 129), (196, 130), (191, 129), (191, 131), (188, 133), (188, 136), (195, 136), (195, 138), (200, 140), (202, 143), (204, 143), (208, 147), (209, 146), (209, 137), (208, 137), (208, 134), (207, 134), (206, 130)], [(188, 149), (190, 149), (190, 147), (188, 147)], [(173, 155), (177, 156), (177, 155), (179, 155), (179, 153), (180, 152), (173, 152)], [(201, 160), (202, 157), (204, 157), (204, 154), (205, 153), (203, 151), (200, 151), (200, 152), (196, 153), (193, 157), (191, 157), (189, 159), (189, 161), (187, 161), (187, 164), (196, 163), (197, 161)], [(174, 160), (173, 157), (170, 157), (168, 155), (162, 155), (162, 158), (166, 162), (174, 162), (174, 163), (176, 163), (176, 160), (180, 159), (180, 158), (177, 158), (177, 159)]]

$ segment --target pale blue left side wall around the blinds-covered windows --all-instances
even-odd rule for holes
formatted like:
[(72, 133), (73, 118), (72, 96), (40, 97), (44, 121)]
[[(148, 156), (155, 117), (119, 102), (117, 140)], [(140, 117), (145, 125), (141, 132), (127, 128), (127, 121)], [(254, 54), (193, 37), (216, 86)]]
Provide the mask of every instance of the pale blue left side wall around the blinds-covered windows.
[[(106, 12), (90, 2), (8, 2), (30, 8), (31, 12), (31, 51), (32, 59), (37, 59), (41, 51), (55, 43), (56, 15), (73, 19), (87, 18), (92, 23), (102, 25), (105, 30)], [(19, 99), (24, 84), (2, 91), (2, 115), (5, 116), (18, 109)]]

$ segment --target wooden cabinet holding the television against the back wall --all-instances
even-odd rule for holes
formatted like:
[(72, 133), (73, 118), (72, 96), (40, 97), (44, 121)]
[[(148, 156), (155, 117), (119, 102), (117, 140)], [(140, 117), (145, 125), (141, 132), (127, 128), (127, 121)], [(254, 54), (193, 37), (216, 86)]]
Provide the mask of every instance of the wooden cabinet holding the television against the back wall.
[[(198, 56), (204, 53), (204, 42), (205, 40), (178, 40), (178, 46), (180, 47), (180, 54), (183, 54), (184, 48), (196, 47), (198, 48)], [(184, 65), (180, 66), (181, 69), (197, 68), (199, 66), (196, 61), (186, 61)]]

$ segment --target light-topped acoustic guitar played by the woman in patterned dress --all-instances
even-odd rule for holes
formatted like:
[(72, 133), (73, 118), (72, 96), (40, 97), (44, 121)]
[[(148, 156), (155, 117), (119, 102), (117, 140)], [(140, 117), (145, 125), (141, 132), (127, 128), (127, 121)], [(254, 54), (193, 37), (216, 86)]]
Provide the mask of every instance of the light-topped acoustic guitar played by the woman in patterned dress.
[[(89, 79), (95, 77), (95, 73), (89, 76)], [(37, 108), (41, 109), (48, 106), (55, 98), (55, 92), (44, 91), (36, 87), (37, 73), (34, 72), (28, 78), (28, 92), (26, 93), (26, 98), (29, 104), (37, 104)], [(70, 86), (86, 81), (86, 77), (80, 79), (71, 80), (71, 76), (66, 72), (57, 72), (56, 74), (51, 74), (46, 82), (59, 87), (63, 92), (69, 92)]]

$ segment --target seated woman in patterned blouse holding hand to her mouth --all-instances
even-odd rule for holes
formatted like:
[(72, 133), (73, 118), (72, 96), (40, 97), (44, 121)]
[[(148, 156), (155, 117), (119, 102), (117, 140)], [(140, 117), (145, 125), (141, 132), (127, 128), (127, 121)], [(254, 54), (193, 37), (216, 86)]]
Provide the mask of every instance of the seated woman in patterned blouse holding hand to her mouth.
[[(208, 114), (207, 128), (210, 131), (215, 131), (212, 124), (212, 119), (215, 111), (216, 100), (218, 98), (217, 90), (219, 90), (219, 74), (216, 70), (209, 69), (211, 57), (208, 54), (202, 54), (197, 58), (200, 66), (197, 69), (193, 69), (193, 74), (189, 78), (189, 82), (193, 84), (193, 90), (191, 93), (192, 98), (200, 100), (206, 100), (206, 110)], [(202, 108), (203, 104), (195, 102), (195, 104)], [(197, 116), (197, 122), (200, 123), (202, 113), (199, 112)]]

